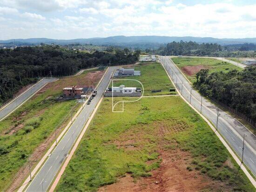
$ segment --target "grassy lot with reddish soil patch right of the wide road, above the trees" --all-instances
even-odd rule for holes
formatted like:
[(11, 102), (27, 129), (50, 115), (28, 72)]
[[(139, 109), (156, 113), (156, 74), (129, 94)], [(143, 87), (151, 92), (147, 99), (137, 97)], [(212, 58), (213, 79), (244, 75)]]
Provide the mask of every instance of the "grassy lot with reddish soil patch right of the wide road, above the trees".
[(201, 69), (209, 69), (209, 73), (219, 71), (226, 73), (233, 69), (236, 69), (238, 71), (243, 70), (242, 68), (233, 64), (222, 62), (221, 60), (216, 60), (212, 58), (174, 57), (172, 58), (172, 60), (192, 83), (196, 81), (195, 74)]

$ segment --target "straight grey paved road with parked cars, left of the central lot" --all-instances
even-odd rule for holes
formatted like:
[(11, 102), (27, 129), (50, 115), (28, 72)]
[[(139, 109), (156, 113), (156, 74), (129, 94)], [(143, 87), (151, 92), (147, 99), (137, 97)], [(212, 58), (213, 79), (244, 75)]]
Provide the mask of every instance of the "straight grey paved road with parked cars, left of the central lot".
[(102, 94), (108, 86), (112, 73), (117, 67), (110, 67), (105, 77), (102, 79), (97, 88), (97, 95), (91, 101), (90, 105), (86, 105), (78, 117), (74, 120), (72, 126), (67, 130), (63, 139), (58, 143), (51, 156), (46, 160), (40, 171), (34, 177), (27, 188), (27, 192), (42, 192), (46, 191), (53, 181), (56, 173), (61, 167), (62, 162), (67, 157), (67, 154), (74, 144), (75, 139), (79, 136), (82, 128), (86, 124), (90, 114), (93, 112), (97, 103), (101, 99)]

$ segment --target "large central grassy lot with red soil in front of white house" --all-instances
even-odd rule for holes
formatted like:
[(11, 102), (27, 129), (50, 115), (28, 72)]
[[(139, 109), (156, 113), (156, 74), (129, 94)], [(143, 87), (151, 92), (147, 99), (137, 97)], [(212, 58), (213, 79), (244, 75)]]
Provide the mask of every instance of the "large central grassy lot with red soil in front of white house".
[[(122, 98), (119, 98), (122, 99)], [(111, 113), (103, 99), (56, 191), (253, 191), (210, 127), (180, 97)]]

